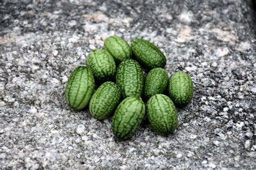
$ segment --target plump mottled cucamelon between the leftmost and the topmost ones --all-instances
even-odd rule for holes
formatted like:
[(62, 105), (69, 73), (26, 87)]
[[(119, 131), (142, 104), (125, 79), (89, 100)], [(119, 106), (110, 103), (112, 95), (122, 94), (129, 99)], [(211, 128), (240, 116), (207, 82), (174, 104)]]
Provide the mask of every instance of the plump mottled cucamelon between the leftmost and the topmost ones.
[(104, 49), (93, 50), (87, 56), (86, 65), (98, 81), (109, 80), (116, 73), (116, 63), (110, 53)]

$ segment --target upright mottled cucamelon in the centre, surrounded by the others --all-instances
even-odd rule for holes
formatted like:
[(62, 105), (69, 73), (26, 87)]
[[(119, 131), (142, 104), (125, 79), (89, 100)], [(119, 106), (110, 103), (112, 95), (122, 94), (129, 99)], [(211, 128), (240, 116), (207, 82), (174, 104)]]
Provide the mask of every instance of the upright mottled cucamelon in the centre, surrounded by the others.
[(139, 63), (132, 59), (124, 60), (117, 68), (116, 83), (123, 98), (140, 97), (143, 93), (143, 73)]

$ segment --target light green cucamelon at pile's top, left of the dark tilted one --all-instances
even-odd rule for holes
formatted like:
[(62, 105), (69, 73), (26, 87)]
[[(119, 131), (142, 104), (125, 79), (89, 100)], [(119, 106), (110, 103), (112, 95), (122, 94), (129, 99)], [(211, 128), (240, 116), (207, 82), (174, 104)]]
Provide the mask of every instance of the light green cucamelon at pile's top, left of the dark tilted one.
[(106, 38), (104, 41), (104, 49), (113, 56), (113, 59), (117, 63), (131, 58), (132, 55), (132, 49), (129, 44), (123, 38), (117, 36)]

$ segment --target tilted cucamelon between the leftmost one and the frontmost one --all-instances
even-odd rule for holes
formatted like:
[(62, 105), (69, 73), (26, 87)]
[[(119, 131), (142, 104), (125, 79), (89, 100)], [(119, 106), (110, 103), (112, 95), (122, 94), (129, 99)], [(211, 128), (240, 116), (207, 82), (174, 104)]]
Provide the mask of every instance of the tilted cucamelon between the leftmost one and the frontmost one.
[(110, 117), (116, 110), (121, 92), (116, 83), (107, 81), (100, 85), (92, 95), (89, 109), (92, 117), (103, 120)]

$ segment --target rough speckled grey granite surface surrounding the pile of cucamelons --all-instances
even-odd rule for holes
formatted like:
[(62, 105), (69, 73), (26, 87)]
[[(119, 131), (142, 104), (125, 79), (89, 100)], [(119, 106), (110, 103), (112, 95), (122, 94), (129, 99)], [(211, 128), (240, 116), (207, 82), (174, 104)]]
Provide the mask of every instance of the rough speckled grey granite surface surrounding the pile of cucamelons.
[[(244, 1), (1, 1), (0, 167), (255, 168), (255, 34)], [(154, 42), (194, 97), (161, 137), (118, 141), (64, 100), (73, 69), (111, 35)]]

